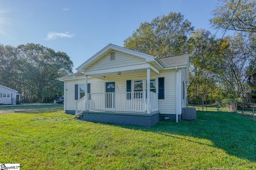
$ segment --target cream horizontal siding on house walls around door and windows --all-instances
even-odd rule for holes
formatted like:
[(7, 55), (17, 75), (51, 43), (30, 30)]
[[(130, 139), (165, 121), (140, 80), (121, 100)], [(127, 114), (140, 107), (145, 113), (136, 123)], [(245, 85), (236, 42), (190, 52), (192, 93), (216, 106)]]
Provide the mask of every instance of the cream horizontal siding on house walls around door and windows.
[[(89, 78), (88, 83), (91, 83), (91, 92), (105, 92), (105, 82), (115, 82), (116, 92), (126, 92), (126, 80), (144, 80), (146, 82), (147, 71), (143, 73), (131, 73), (122, 75), (111, 75), (105, 80), (97, 78)], [(165, 99), (158, 100), (158, 108), (161, 114), (175, 114), (176, 113), (176, 83), (175, 70), (161, 71), (156, 74), (151, 71), (151, 79), (164, 77), (164, 93)], [(146, 87), (144, 82), (144, 87)], [(84, 79), (67, 81), (66, 87), (66, 110), (75, 110), (75, 84), (84, 83)], [(146, 89), (145, 89), (146, 90)], [(157, 82), (158, 91), (158, 82)]]

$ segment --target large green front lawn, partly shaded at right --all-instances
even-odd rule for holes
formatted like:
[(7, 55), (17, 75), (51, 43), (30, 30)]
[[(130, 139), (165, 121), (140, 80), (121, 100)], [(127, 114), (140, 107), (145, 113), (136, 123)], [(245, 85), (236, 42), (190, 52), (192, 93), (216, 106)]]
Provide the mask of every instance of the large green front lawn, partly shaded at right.
[(256, 169), (256, 123), (236, 113), (153, 128), (80, 121), (63, 111), (0, 114), (0, 163), (21, 169)]

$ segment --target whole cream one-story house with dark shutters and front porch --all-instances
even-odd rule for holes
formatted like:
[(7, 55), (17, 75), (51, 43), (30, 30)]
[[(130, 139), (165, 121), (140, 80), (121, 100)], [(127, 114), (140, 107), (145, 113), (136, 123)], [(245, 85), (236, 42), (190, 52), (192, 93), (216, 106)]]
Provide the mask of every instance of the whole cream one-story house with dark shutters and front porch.
[(189, 57), (156, 57), (107, 45), (64, 82), (64, 109), (93, 122), (153, 125), (181, 120)]

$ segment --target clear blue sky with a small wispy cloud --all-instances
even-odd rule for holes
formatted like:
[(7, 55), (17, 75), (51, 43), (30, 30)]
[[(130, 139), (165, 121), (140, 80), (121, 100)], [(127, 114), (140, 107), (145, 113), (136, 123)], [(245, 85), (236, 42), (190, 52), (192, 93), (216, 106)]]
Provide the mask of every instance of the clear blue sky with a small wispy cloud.
[(76, 72), (108, 44), (123, 46), (140, 23), (170, 12), (181, 12), (195, 29), (215, 33), (209, 20), (218, 5), (217, 0), (0, 0), (0, 44), (36, 43), (66, 52)]

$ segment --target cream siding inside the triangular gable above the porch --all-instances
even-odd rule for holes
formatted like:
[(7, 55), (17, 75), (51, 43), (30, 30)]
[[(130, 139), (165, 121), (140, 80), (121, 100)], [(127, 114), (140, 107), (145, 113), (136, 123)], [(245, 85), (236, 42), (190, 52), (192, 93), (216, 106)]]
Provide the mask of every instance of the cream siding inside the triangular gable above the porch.
[(110, 61), (110, 53), (101, 57), (98, 61), (92, 63), (88, 66), (85, 71), (95, 71), (95, 70), (102, 70), (102, 69), (111, 69), (115, 67), (122, 67), (122, 66), (130, 66), (130, 65), (137, 65), (137, 64), (145, 64), (146, 60), (144, 58), (136, 57), (133, 55), (115, 52), (115, 60)]

